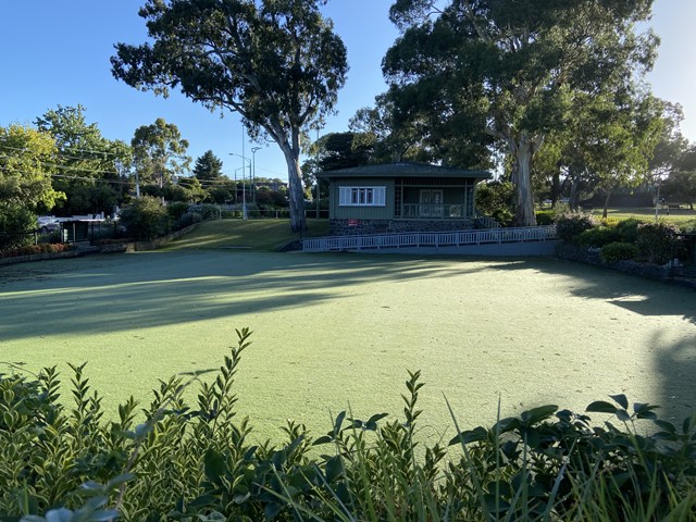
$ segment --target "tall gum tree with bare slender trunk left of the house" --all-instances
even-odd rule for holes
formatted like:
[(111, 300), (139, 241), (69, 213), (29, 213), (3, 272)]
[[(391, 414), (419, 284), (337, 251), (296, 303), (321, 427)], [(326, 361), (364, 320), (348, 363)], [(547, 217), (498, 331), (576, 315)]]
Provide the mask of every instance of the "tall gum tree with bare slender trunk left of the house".
[(290, 227), (307, 227), (300, 170), (304, 132), (333, 111), (346, 48), (319, 7), (325, 0), (148, 0), (152, 44), (116, 45), (112, 73), (141, 90), (172, 88), (211, 111), (238, 112), (252, 137), (271, 138), (288, 169)]

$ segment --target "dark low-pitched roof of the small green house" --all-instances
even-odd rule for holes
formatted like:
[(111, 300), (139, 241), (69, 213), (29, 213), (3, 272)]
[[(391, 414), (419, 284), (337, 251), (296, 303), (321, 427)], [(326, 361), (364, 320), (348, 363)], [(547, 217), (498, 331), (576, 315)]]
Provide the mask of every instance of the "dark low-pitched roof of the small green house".
[(318, 177), (323, 179), (338, 177), (471, 177), (475, 179), (488, 179), (492, 175), (486, 171), (467, 171), (463, 169), (428, 165), (425, 163), (387, 163), (324, 171), (320, 172)]

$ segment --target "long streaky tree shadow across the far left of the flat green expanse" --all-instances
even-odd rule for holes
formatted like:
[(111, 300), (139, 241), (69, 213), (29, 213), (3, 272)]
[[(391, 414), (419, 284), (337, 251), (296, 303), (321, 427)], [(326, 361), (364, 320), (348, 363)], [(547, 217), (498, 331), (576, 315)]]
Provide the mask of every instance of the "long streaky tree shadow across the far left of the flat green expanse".
[[(0, 340), (113, 333), (341, 299), (338, 287), (437, 277), (394, 257), (139, 252), (13, 265), (0, 284)], [(477, 269), (472, 268), (475, 271)]]

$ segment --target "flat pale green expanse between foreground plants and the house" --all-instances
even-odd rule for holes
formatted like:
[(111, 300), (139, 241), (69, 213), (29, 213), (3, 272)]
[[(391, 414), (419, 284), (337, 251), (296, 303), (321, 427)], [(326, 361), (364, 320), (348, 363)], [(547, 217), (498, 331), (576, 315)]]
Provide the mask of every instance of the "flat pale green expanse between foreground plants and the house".
[(217, 366), (254, 331), (239, 409), (260, 435), (315, 434), (351, 405), (401, 411), (420, 369), (426, 435), (608, 394), (696, 406), (696, 291), (546, 260), (197, 250), (0, 268), (0, 359), (37, 370), (89, 361), (112, 409), (175, 372)]

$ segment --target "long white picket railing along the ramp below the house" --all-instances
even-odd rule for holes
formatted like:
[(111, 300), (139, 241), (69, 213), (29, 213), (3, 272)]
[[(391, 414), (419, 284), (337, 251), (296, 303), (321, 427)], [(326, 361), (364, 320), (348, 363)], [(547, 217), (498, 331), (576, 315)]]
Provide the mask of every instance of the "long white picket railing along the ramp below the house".
[(302, 239), (303, 252), (400, 248), (400, 247), (460, 247), (492, 243), (544, 241), (556, 239), (555, 226), (520, 228), (487, 228), (462, 232), (413, 232), (368, 236), (312, 237)]

